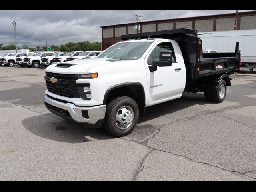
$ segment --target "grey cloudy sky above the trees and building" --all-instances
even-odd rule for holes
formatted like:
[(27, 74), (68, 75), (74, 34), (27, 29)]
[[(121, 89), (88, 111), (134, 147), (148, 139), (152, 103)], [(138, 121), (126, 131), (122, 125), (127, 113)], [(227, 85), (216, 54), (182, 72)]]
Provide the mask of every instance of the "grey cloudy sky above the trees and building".
[[(134, 14), (141, 15), (141, 21), (182, 18), (211, 14), (234, 13), (228, 11), (0, 11), (0, 43), (15, 44), (16, 21), (18, 46), (29, 47), (60, 45), (66, 42), (101, 42), (100, 26), (136, 22)], [(239, 11), (243, 12), (243, 11)]]

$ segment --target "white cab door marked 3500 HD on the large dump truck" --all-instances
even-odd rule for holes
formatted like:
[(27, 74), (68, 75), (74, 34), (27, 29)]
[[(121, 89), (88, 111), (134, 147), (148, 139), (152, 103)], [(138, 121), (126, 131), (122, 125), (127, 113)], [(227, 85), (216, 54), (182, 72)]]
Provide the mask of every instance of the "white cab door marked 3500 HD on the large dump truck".
[[(172, 51), (172, 66), (157, 66), (155, 71), (150, 72), (149, 66), (152, 66), (152, 61), (159, 61), (159, 53), (164, 50)], [(145, 58), (145, 67), (148, 80), (148, 106), (181, 96), (182, 67), (170, 40), (160, 41), (152, 47)]]

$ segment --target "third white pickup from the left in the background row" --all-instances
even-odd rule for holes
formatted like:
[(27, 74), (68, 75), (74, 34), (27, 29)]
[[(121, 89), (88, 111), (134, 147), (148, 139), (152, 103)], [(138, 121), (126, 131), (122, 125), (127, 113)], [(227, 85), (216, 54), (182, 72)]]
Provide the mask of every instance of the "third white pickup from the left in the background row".
[(31, 57), (26, 57), (24, 58), (23, 60), (23, 63), (28, 67), (28, 68), (31, 68), (32, 66), (34, 68), (38, 68), (42, 62), (42, 57), (46, 57), (46, 56), (51, 56), (53, 55), (54, 52), (39, 52), (39, 53), (36, 53), (34, 54), (33, 56)]

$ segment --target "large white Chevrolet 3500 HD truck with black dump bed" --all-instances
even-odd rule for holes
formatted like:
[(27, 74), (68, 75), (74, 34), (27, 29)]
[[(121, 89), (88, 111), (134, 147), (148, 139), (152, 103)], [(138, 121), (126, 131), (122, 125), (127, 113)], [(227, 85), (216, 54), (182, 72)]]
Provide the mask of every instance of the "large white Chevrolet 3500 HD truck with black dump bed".
[(228, 74), (240, 66), (239, 43), (233, 53), (202, 52), (196, 30), (174, 29), (121, 36), (92, 60), (46, 68), (48, 110), (85, 127), (104, 126), (112, 136), (135, 128), (139, 112), (182, 96), (204, 92), (220, 103), (231, 86)]

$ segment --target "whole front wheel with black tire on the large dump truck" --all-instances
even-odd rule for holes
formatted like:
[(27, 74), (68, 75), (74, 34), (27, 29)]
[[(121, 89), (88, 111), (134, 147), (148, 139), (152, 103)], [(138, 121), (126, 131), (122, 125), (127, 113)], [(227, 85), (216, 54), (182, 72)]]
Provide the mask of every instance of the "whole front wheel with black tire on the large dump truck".
[(112, 136), (126, 136), (134, 130), (138, 119), (137, 103), (130, 97), (121, 96), (106, 106), (104, 128)]

